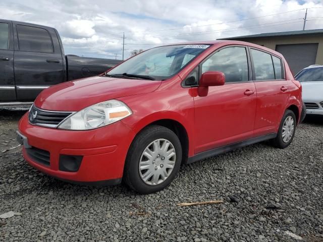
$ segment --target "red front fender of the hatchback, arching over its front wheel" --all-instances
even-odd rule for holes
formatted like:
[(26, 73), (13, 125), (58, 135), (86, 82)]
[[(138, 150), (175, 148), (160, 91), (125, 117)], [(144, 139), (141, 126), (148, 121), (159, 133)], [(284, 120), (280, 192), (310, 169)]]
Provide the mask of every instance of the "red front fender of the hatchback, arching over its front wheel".
[[(138, 134), (146, 126), (162, 119), (180, 123), (189, 141), (194, 140), (194, 100), (190, 88), (155, 91), (152, 93), (119, 98), (133, 111), (122, 122)], [(193, 142), (189, 142), (189, 155), (194, 154)]]

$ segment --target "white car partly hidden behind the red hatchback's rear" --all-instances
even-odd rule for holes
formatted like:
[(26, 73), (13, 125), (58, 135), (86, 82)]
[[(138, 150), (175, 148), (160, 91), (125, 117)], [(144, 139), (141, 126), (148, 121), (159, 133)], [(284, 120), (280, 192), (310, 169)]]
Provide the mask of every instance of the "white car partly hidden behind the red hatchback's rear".
[(300, 71), (295, 79), (302, 84), (306, 114), (323, 115), (323, 66), (309, 66)]

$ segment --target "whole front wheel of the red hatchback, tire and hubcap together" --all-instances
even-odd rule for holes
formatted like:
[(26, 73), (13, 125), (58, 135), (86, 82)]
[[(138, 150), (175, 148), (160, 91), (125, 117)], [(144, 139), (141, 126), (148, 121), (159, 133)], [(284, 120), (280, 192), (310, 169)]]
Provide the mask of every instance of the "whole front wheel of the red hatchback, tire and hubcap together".
[(149, 126), (130, 146), (123, 179), (138, 193), (154, 193), (171, 183), (181, 161), (182, 147), (177, 135), (163, 126)]

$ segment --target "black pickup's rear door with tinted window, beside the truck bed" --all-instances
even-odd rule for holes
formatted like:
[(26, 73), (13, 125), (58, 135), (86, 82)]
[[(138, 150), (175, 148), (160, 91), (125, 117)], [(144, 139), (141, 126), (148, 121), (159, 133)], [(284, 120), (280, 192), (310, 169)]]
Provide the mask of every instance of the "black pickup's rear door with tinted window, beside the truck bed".
[(45, 88), (66, 79), (61, 47), (52, 28), (13, 23), (18, 101), (33, 101)]

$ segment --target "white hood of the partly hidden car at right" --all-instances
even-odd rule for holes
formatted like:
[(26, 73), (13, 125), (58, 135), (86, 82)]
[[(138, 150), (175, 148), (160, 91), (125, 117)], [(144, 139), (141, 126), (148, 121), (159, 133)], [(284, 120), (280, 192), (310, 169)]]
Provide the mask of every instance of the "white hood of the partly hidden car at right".
[(323, 81), (301, 82), (302, 99), (304, 102), (323, 101)]

